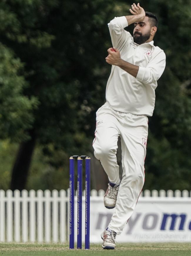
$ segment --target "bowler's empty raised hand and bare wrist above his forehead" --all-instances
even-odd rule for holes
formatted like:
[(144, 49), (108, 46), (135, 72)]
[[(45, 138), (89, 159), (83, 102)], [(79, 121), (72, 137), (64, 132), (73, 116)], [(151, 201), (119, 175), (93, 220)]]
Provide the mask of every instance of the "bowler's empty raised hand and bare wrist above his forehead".
[(131, 8), (132, 9), (129, 9), (129, 10), (130, 10), (130, 13), (133, 15), (125, 16), (128, 21), (128, 25), (135, 22), (143, 21), (145, 18), (145, 11), (142, 7), (140, 7), (140, 4), (138, 3), (136, 6), (136, 4), (134, 3), (131, 5)]

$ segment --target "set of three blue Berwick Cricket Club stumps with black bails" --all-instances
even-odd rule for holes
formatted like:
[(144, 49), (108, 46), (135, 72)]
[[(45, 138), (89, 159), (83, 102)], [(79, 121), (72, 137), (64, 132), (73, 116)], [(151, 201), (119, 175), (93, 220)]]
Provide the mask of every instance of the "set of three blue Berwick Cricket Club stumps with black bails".
[(90, 249), (90, 162), (88, 156), (70, 157), (70, 202), (69, 202), (69, 248), (74, 249), (74, 194), (75, 194), (75, 159), (77, 159), (77, 249), (82, 249), (82, 170), (83, 159), (86, 163), (85, 172), (85, 249)]

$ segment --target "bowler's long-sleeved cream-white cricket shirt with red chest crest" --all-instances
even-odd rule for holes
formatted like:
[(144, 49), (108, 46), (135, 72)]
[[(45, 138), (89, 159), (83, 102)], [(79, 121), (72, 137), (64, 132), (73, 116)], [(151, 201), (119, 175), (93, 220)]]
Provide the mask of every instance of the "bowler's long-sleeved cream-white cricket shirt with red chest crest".
[(127, 19), (115, 17), (108, 23), (113, 47), (121, 58), (139, 66), (137, 77), (112, 66), (106, 87), (106, 100), (114, 110), (136, 115), (153, 115), (157, 80), (165, 69), (165, 53), (153, 41), (138, 45), (124, 28)]

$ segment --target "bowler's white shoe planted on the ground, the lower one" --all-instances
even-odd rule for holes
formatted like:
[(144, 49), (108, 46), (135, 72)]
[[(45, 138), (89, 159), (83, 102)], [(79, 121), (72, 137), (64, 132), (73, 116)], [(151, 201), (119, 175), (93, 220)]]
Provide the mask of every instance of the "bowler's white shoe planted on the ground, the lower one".
[(117, 233), (114, 230), (109, 228), (105, 229), (103, 233), (101, 233), (101, 238), (103, 240), (102, 248), (106, 250), (115, 249), (115, 237)]

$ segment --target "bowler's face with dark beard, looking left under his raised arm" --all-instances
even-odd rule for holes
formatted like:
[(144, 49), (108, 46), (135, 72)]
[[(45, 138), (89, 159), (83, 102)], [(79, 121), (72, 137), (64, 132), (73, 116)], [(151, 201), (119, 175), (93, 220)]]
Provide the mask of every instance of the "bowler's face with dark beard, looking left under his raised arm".
[(148, 21), (148, 17), (145, 16), (145, 19), (141, 22), (135, 22), (134, 23), (134, 30), (133, 30), (133, 38), (134, 42), (137, 44), (142, 44), (145, 42), (150, 42), (150, 32), (151, 27), (150, 23)]

